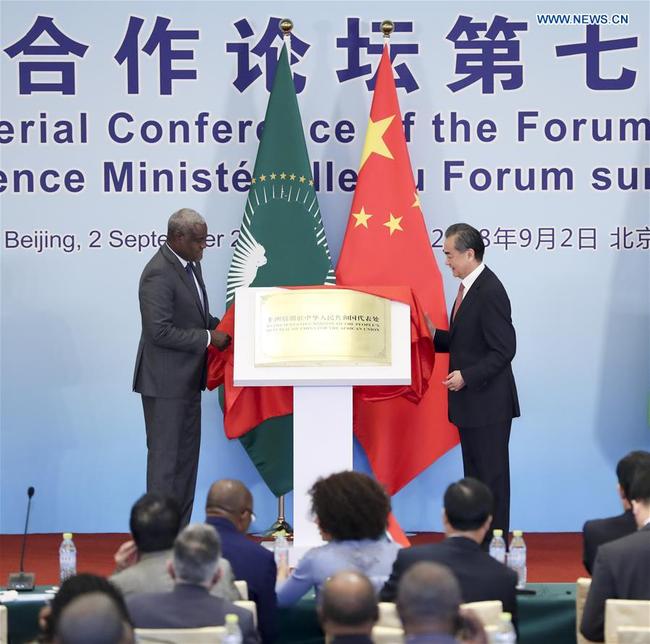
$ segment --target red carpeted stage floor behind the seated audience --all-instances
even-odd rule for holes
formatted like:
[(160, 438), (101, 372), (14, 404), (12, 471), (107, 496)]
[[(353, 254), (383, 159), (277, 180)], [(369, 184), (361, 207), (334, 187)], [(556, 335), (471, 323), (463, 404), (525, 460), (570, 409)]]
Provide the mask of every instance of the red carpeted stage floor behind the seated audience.
[[(528, 533), (528, 581), (572, 582), (586, 575), (582, 567), (582, 539), (579, 533)], [(113, 553), (129, 538), (128, 534), (75, 534), (77, 570), (109, 575)], [(442, 539), (441, 534), (426, 532), (411, 537), (413, 544)], [(58, 583), (60, 534), (30, 534), (25, 551), (25, 570), (36, 573), (38, 585)], [(20, 565), (21, 535), (0, 535), (0, 585)]]

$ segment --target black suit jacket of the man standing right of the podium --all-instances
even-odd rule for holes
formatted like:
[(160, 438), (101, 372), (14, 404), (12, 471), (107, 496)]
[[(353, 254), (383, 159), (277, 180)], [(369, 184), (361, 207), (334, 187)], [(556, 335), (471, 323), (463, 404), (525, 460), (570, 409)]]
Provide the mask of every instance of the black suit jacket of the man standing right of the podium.
[(519, 416), (510, 366), (516, 351), (510, 300), (487, 266), (467, 291), (449, 331), (436, 330), (434, 345), (449, 353), (449, 371), (460, 370), (465, 380), (463, 389), (449, 392), (454, 425), (482, 427)]

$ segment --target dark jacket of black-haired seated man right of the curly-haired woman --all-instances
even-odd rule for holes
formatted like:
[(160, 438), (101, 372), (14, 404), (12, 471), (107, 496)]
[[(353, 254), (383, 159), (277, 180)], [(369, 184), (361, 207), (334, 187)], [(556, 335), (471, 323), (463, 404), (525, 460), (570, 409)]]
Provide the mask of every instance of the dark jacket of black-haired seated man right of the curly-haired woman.
[(392, 602), (402, 575), (420, 561), (447, 566), (455, 575), (464, 602), (500, 599), (503, 610), (517, 617), (517, 573), (490, 557), (481, 546), (466, 537), (448, 537), (440, 543), (403, 548), (393, 564), (393, 571), (381, 589), (381, 601)]

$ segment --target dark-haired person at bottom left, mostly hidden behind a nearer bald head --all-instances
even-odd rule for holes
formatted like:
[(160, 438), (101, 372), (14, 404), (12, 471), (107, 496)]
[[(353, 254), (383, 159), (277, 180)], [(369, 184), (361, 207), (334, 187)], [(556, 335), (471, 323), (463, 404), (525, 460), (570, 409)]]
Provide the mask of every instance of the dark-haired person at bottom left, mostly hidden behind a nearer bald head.
[(80, 573), (66, 579), (52, 598), (48, 606), (44, 606), (38, 616), (39, 634), (37, 641), (49, 644), (54, 641), (59, 621), (63, 611), (75, 599), (82, 595), (101, 593), (106, 595), (116, 606), (121, 620), (130, 625), (129, 612), (120, 591), (107, 579), (99, 575)]

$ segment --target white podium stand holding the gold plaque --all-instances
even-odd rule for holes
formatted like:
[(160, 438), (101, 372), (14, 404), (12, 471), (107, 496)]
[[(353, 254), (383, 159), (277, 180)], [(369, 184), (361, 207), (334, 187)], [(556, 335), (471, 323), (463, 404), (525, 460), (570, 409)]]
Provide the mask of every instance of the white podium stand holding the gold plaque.
[(323, 543), (310, 516), (308, 491), (319, 477), (352, 469), (353, 385), (411, 382), (411, 322), (406, 304), (391, 301), (391, 364), (256, 366), (255, 306), (278, 288), (241, 288), (235, 299), (234, 384), (293, 386), (293, 549), (295, 565), (305, 550)]

